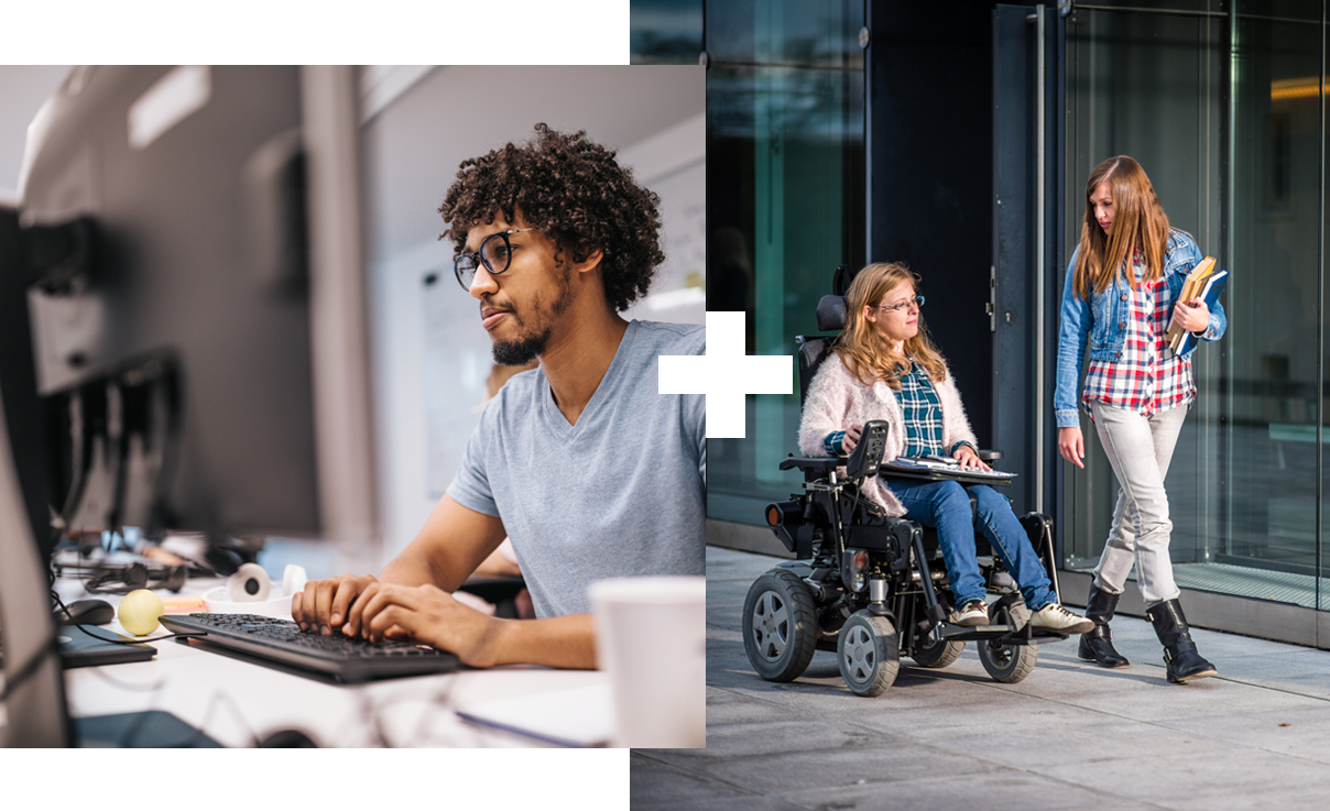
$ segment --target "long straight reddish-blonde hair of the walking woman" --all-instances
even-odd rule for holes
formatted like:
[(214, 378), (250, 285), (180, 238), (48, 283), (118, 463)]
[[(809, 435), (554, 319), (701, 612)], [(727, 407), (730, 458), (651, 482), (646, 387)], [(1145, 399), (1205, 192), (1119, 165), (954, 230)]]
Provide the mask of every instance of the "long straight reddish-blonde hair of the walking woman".
[[(1095, 205), (1089, 202), (1091, 194), (1101, 183), (1108, 183), (1108, 193), (1113, 199), (1113, 229), (1109, 234), (1099, 227)], [(1133, 249), (1144, 254), (1146, 281), (1158, 279), (1164, 275), (1168, 234), (1168, 214), (1141, 165), (1127, 156), (1108, 158), (1085, 181), (1085, 222), (1081, 223), (1080, 253), (1073, 277), (1076, 295), (1089, 300), (1092, 290), (1107, 290), (1113, 277), (1123, 273)], [(1136, 287), (1134, 273), (1127, 273), (1127, 283)]]

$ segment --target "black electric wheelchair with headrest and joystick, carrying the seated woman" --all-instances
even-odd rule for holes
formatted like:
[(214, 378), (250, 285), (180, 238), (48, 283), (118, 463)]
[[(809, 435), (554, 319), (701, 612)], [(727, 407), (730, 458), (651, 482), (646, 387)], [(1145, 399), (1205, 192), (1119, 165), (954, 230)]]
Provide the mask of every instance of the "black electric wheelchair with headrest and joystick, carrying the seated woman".
[[(818, 304), (823, 332), (846, 323), (846, 270), (837, 271), (837, 295)], [(831, 338), (797, 339), (801, 402)], [(1067, 636), (1028, 625), (1031, 613), (1015, 580), (978, 530), (980, 574), (996, 594), (988, 604), (990, 625), (967, 628), (951, 621), (951, 589), (934, 530), (888, 517), (861, 495), (864, 480), (879, 473), (886, 432), (883, 421), (864, 425), (849, 459), (791, 455), (781, 461), (782, 471), (803, 472), (803, 492), (767, 505), (766, 522), (795, 560), (777, 565), (749, 588), (743, 601), (749, 661), (762, 678), (789, 682), (803, 674), (814, 651), (834, 650), (850, 690), (874, 697), (895, 682), (902, 654), (922, 667), (946, 667), (966, 642), (975, 642), (994, 679), (1024, 679), (1039, 658), (1036, 639)], [(980, 452), (986, 461), (1000, 456)], [(838, 475), (841, 467), (843, 475)], [(1028, 513), (1020, 522), (1056, 590), (1051, 519)]]

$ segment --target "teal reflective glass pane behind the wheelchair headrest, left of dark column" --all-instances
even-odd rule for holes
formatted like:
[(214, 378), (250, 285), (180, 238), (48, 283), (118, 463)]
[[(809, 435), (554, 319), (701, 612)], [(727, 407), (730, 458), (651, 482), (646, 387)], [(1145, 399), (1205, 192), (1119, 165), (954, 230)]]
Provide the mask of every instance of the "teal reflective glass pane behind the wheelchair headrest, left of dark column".
[[(864, 245), (862, 3), (706, 4), (708, 310), (747, 351), (793, 355)], [(708, 443), (708, 515), (754, 524), (798, 489), (798, 395), (747, 399), (747, 436)]]

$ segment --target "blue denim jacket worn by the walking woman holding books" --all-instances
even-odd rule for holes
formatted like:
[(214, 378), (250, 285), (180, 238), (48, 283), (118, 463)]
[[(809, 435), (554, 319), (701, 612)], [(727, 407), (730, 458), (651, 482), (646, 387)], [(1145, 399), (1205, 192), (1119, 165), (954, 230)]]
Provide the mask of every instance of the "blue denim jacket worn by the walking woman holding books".
[[(1103, 292), (1091, 291), (1091, 300), (1076, 295), (1073, 277), (1076, 274), (1076, 251), (1067, 265), (1067, 283), (1063, 286), (1061, 328), (1057, 335), (1057, 390), (1053, 394), (1053, 411), (1059, 428), (1080, 427), (1077, 402), (1080, 384), (1085, 374), (1085, 346), (1089, 344), (1091, 360), (1115, 360), (1123, 356), (1127, 343), (1127, 314), (1130, 289), (1123, 274), (1113, 277), (1113, 283)], [(1164, 255), (1164, 278), (1174, 302), (1182, 291), (1186, 274), (1192, 273), (1204, 255), (1196, 246), (1196, 239), (1185, 231), (1173, 229), (1168, 238), (1168, 253)], [(1214, 302), (1210, 308), (1210, 326), (1201, 335), (1202, 340), (1218, 340), (1229, 327), (1224, 315), (1224, 304)], [(1192, 348), (1196, 351), (1196, 347)], [(1185, 356), (1190, 355), (1188, 352)]]

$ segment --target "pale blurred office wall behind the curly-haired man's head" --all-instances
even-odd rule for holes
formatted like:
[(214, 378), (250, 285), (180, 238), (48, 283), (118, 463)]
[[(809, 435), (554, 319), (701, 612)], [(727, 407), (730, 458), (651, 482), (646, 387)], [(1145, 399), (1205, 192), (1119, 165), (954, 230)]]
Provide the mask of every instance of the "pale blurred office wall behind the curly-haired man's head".
[(436, 68), (364, 129), (383, 561), (419, 530), (477, 420), (489, 338), (436, 210), (458, 165), (536, 122), (585, 129), (662, 198), (670, 265), (628, 316), (705, 320), (705, 86), (698, 66)]

